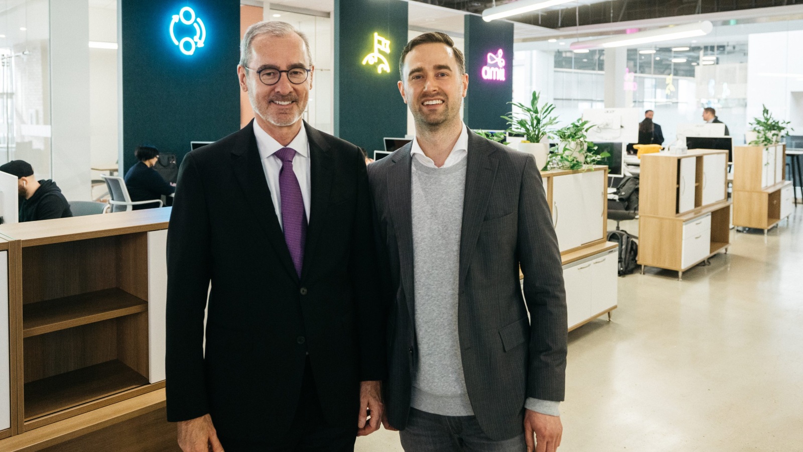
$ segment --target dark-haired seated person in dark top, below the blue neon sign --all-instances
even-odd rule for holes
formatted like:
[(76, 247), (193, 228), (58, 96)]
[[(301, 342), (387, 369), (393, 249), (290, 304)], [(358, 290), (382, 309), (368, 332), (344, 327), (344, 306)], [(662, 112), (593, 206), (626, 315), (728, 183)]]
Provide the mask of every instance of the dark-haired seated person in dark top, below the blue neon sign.
[[(125, 187), (128, 188), (128, 195), (132, 201), (147, 201), (149, 199), (160, 199), (162, 195), (173, 195), (176, 186), (168, 183), (161, 177), (153, 165), (159, 159), (159, 150), (153, 146), (137, 146), (134, 155), (140, 162), (132, 166), (125, 173)], [(134, 210), (156, 208), (159, 204), (141, 204), (133, 206)]]

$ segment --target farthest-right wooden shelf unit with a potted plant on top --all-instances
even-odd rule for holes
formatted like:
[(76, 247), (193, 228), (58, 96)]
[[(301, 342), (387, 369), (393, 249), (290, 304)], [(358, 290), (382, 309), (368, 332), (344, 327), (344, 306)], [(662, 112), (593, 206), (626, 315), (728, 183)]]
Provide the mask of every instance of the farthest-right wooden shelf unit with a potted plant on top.
[(764, 229), (794, 209), (794, 187), (786, 180), (786, 145), (733, 149), (733, 225)]

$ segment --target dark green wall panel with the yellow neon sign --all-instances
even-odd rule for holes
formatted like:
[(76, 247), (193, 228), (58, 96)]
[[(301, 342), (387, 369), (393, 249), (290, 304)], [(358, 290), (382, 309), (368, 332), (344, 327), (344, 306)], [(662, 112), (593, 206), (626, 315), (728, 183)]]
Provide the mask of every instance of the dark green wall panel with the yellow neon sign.
[[(368, 151), (384, 150), (383, 137), (404, 137), (407, 109), (399, 94), (398, 60), (407, 43), (407, 2), (335, 0), (335, 134)], [(373, 34), (390, 41), (381, 64), (362, 64), (373, 52)]]

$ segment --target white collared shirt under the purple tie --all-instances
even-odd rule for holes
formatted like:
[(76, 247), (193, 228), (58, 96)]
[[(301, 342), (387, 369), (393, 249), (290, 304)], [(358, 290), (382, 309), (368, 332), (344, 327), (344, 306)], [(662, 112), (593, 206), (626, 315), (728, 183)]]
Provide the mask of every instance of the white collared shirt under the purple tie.
[[(276, 217), (279, 218), (279, 227), (283, 229), (282, 199), (279, 193), (279, 171), (282, 169), (282, 160), (275, 153), (285, 146), (280, 145), (275, 138), (267, 134), (259, 127), (256, 121), (254, 121), (254, 135), (256, 136), (256, 147), (259, 150), (259, 159), (262, 161), (262, 168), (265, 171), (267, 187), (271, 189), (271, 200), (276, 211)], [(307, 222), (309, 223), (310, 155), (309, 140), (304, 125), (301, 125), (296, 138), (293, 138), (293, 141), (286, 147), (296, 150), (296, 157), (293, 158), (293, 172), (296, 173), (296, 179), (299, 180), (301, 197), (304, 199), (304, 212), (307, 214)]]

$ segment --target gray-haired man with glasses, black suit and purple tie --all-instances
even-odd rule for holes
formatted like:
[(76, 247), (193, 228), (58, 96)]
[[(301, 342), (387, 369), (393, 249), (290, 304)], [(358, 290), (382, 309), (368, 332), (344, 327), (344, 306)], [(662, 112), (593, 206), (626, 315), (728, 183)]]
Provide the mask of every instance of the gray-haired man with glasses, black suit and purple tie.
[(255, 120), (181, 164), (166, 381), (186, 452), (351, 451), (381, 422), (368, 175), (357, 146), (302, 121), (313, 69), (290, 24), (249, 27), (238, 76)]

